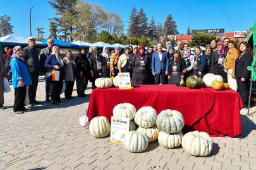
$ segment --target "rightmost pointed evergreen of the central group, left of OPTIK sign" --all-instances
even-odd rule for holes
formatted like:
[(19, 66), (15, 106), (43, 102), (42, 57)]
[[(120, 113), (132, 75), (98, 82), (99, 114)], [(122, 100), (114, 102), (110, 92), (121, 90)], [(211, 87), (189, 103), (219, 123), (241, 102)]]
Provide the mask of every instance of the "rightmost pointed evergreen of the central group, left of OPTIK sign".
[(176, 21), (173, 20), (173, 16), (169, 13), (164, 21), (164, 35), (179, 35), (177, 30)]

